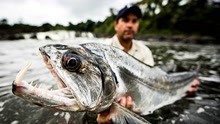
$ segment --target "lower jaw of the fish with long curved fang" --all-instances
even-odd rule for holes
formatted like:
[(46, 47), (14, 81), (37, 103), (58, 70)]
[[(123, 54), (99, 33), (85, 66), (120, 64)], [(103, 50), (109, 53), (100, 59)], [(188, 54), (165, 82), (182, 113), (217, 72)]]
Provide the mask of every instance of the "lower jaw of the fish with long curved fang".
[(15, 81), (13, 81), (12, 92), (14, 95), (21, 97), (29, 103), (46, 108), (64, 111), (83, 111), (85, 109), (72, 97), (70, 89), (68, 88), (47, 90), (32, 86), (31, 83), (23, 81), (22, 78), (24, 77), (24, 73), (29, 67), (30, 64), (23, 67), (18, 73)]

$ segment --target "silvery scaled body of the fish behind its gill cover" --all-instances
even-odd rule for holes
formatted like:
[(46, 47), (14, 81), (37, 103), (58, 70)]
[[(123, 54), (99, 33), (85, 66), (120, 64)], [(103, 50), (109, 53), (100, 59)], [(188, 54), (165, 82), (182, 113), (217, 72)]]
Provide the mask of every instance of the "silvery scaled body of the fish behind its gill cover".
[(197, 72), (167, 74), (158, 67), (146, 65), (124, 51), (99, 44), (83, 44), (94, 54), (104, 56), (118, 82), (117, 98), (130, 95), (133, 111), (146, 115), (185, 96)]

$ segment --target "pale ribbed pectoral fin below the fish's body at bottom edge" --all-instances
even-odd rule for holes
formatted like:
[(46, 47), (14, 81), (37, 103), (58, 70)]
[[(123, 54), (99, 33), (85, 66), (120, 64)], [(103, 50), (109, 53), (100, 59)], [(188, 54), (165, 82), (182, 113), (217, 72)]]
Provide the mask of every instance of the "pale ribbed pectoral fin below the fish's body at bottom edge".
[(113, 103), (111, 106), (112, 122), (114, 124), (150, 124), (140, 115), (122, 107), (118, 103)]

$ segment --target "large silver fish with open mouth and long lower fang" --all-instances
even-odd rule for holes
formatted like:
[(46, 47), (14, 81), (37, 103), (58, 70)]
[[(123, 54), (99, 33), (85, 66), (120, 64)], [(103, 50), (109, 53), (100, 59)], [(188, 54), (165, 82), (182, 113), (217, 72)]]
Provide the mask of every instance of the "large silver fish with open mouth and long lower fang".
[[(113, 123), (149, 123), (142, 115), (181, 99), (198, 72), (167, 73), (126, 52), (101, 43), (48, 44), (39, 48), (46, 67), (57, 81), (48, 90), (23, 80), (28, 63), (12, 83), (12, 92), (46, 108), (99, 114), (111, 110)], [(117, 99), (131, 96), (131, 109)]]

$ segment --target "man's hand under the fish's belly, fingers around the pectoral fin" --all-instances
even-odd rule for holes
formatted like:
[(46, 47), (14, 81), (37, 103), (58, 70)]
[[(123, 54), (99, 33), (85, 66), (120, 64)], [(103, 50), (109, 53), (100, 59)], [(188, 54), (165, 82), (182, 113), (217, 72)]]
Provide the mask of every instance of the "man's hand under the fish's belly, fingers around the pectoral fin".
[[(127, 109), (131, 109), (133, 106), (133, 100), (131, 98), (131, 96), (122, 96), (119, 97), (118, 99), (118, 103), (127, 108)], [(114, 112), (112, 112), (111, 110), (105, 110), (104, 112), (101, 112), (100, 114), (98, 114), (97, 117), (97, 122), (99, 124), (111, 124), (111, 116), (114, 114)]]

